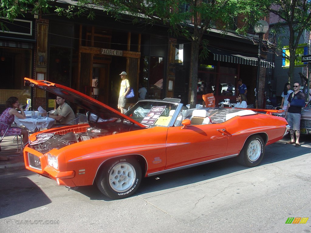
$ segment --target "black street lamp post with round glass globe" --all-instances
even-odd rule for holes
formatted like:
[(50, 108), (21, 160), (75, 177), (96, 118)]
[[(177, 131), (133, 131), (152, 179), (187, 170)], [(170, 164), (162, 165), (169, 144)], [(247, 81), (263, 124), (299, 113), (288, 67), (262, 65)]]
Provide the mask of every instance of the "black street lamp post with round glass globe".
[(258, 82), (259, 82), (259, 72), (260, 72), (260, 55), (261, 55), (261, 43), (262, 43), (262, 35), (267, 33), (269, 29), (269, 25), (264, 20), (259, 20), (254, 26), (255, 32), (259, 37), (259, 45), (258, 45), (258, 61), (257, 61), (257, 83), (256, 83), (256, 108), (258, 108)]

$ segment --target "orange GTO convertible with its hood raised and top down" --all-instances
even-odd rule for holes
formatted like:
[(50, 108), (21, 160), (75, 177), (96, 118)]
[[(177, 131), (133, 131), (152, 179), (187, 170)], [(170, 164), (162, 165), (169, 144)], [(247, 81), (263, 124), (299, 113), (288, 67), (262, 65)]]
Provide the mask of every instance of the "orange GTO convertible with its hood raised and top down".
[(289, 128), (282, 117), (248, 109), (187, 109), (170, 98), (142, 100), (121, 114), (62, 85), (28, 78), (25, 85), (88, 111), (88, 124), (30, 135), (23, 152), (26, 168), (59, 185), (96, 183), (112, 199), (132, 195), (146, 176), (232, 157), (257, 166), (265, 146)]

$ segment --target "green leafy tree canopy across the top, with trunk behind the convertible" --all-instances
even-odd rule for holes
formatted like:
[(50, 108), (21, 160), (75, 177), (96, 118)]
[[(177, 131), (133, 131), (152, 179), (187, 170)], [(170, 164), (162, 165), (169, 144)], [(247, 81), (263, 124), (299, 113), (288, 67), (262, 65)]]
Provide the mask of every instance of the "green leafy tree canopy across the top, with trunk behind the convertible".
[[(25, 12), (33, 14), (39, 10), (46, 12), (56, 1), (47, 0), (2, 0), (1, 16), (13, 19)], [(67, 8), (53, 8), (59, 15), (69, 18), (86, 16), (95, 18), (95, 11), (102, 10), (116, 20), (131, 18), (133, 23), (160, 24), (168, 27), (172, 36), (179, 36), (191, 42), (191, 107), (195, 106), (197, 95), (197, 68), (199, 51), (207, 56), (208, 44), (203, 39), (211, 28), (229, 25), (233, 17), (244, 16), (245, 25), (239, 33), (248, 29), (249, 24), (263, 16), (262, 1), (259, 0), (76, 0)], [(51, 10), (50, 10), (51, 11)], [(219, 24), (221, 22), (221, 24)], [(221, 26), (220, 30), (227, 30)]]

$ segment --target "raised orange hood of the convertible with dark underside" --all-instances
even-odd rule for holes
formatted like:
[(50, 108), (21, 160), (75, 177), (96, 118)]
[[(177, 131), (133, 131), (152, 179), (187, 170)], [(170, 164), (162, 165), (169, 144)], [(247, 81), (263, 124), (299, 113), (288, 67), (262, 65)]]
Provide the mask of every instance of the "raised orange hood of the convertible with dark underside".
[(86, 94), (83, 94), (69, 87), (51, 83), (49, 81), (40, 81), (40, 80), (34, 80), (34, 79), (29, 79), (29, 78), (24, 78), (24, 79), (25, 79), (25, 86), (36, 87), (44, 91), (48, 91), (57, 96), (60, 96), (68, 100), (69, 102), (74, 103), (77, 106), (85, 109), (86, 111), (94, 113), (95, 115), (97, 115), (98, 117), (102, 119), (105, 119), (105, 120), (109, 120), (111, 118), (126, 119), (138, 126), (141, 126), (144, 128), (146, 127), (142, 125), (141, 123), (133, 120), (132, 118), (122, 114), (121, 112), (118, 112), (112, 107), (109, 107), (108, 105), (101, 103), (91, 98), (90, 96), (87, 96)]

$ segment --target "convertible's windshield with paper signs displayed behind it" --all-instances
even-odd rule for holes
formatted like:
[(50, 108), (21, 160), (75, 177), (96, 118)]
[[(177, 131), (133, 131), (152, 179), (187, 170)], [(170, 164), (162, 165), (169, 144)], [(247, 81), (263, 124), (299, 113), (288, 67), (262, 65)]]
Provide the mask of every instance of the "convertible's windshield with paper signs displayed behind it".
[(168, 126), (178, 103), (140, 101), (125, 113), (135, 121), (150, 126)]

